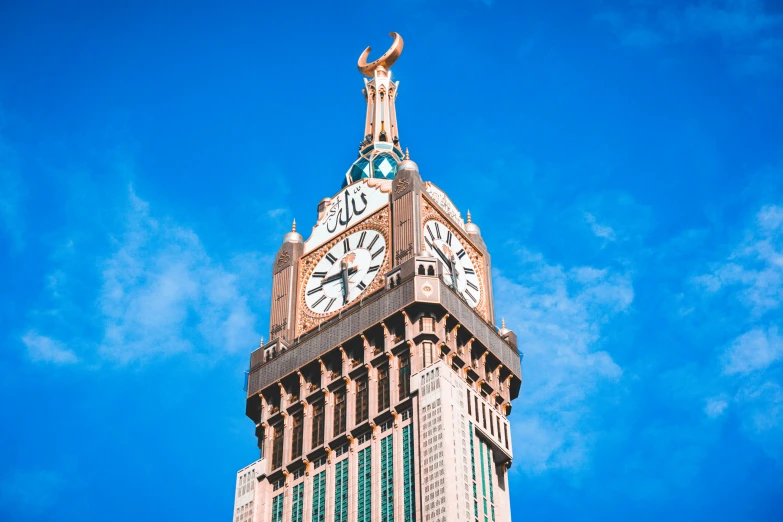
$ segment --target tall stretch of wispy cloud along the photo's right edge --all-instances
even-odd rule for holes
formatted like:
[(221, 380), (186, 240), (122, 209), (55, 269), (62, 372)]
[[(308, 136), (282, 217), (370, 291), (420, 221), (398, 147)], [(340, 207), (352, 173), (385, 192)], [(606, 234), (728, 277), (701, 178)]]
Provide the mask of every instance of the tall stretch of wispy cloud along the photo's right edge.
[(711, 273), (693, 279), (708, 300), (740, 305), (719, 321), (745, 325), (716, 350), (721, 394), (707, 400), (705, 413), (717, 418), (733, 408), (748, 437), (783, 458), (783, 341), (777, 326), (783, 297), (783, 207), (759, 209), (743, 236), (724, 261), (710, 265)]

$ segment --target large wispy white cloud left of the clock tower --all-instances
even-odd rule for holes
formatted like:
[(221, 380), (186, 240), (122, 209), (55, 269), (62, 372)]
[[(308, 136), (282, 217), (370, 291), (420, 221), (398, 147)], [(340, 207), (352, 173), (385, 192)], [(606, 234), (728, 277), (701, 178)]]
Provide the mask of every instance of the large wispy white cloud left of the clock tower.
[(101, 355), (127, 363), (235, 353), (258, 342), (238, 276), (213, 261), (192, 230), (153, 218), (132, 190), (115, 243), (103, 265)]

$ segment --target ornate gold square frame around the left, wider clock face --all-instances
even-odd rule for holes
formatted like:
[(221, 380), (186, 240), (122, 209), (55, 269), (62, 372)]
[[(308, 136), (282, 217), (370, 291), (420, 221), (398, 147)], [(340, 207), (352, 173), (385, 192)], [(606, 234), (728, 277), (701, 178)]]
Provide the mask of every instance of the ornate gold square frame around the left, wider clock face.
[(383, 263), (381, 265), (381, 269), (378, 270), (378, 273), (375, 274), (375, 277), (373, 278), (372, 282), (367, 286), (367, 288), (362, 292), (362, 294), (355, 299), (352, 303), (349, 303), (348, 306), (351, 306), (356, 303), (356, 301), (360, 299), (364, 299), (368, 295), (384, 288), (385, 281), (383, 274), (385, 274), (390, 268), (391, 268), (391, 255), (389, 254), (390, 249), (392, 248), (391, 245), (391, 234), (389, 233), (389, 227), (390, 227), (390, 211), (389, 206), (386, 205), (384, 207), (381, 207), (378, 211), (376, 211), (374, 214), (371, 214), (364, 220), (357, 223), (353, 228), (349, 228), (345, 231), (343, 231), (341, 234), (333, 237), (328, 242), (324, 243), (318, 249), (313, 250), (312, 252), (308, 253), (307, 256), (303, 257), (299, 263), (299, 306), (298, 306), (298, 313), (297, 313), (297, 321), (296, 321), (296, 335), (301, 335), (308, 330), (311, 330), (312, 328), (315, 328), (320, 323), (325, 322), (327, 319), (334, 317), (335, 315), (339, 314), (343, 309), (338, 309), (334, 312), (330, 312), (328, 314), (319, 314), (315, 313), (307, 306), (307, 302), (305, 300), (305, 287), (307, 284), (307, 280), (310, 279), (310, 275), (313, 273), (313, 270), (315, 270), (316, 265), (318, 262), (323, 258), (323, 256), (326, 255), (326, 253), (332, 249), (332, 247), (338, 243), (340, 243), (343, 239), (350, 236), (351, 234), (355, 234), (356, 232), (361, 232), (362, 230), (374, 230), (375, 232), (378, 232), (383, 236), (383, 240), (386, 242), (386, 246), (384, 248), (384, 254), (383, 254)]

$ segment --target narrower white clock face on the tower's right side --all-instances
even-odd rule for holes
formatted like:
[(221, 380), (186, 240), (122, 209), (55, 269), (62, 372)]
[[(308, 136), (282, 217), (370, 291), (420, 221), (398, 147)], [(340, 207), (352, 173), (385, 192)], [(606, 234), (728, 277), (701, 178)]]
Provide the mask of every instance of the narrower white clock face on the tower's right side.
[(443, 280), (476, 307), (481, 301), (481, 281), (465, 247), (449, 227), (436, 219), (424, 224), (424, 246), (443, 264)]

